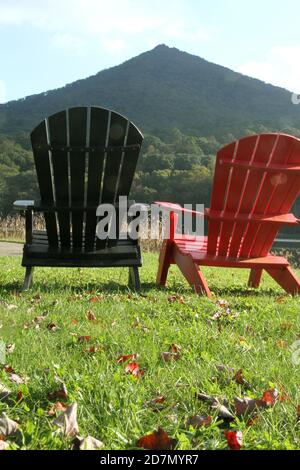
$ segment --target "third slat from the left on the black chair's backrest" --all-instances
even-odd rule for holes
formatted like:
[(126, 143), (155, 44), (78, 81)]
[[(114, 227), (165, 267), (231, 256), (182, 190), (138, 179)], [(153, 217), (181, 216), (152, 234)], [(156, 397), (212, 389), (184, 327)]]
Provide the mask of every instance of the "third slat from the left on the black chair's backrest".
[[(87, 143), (87, 108), (69, 109), (69, 133), (70, 148), (72, 146), (84, 149)], [(71, 205), (84, 205), (85, 188), (85, 161), (84, 151), (70, 152), (70, 176), (71, 176)], [(72, 211), (72, 239), (73, 249), (82, 249), (83, 234), (83, 210)]]

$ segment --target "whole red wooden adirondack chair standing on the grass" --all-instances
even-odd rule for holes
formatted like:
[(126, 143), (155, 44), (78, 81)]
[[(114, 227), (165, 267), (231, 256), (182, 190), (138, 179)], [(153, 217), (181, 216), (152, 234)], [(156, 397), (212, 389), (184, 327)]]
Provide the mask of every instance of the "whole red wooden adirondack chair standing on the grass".
[[(300, 293), (289, 262), (269, 253), (283, 224), (300, 223), (289, 213), (300, 191), (300, 139), (286, 134), (245, 137), (217, 154), (211, 207), (205, 210), (208, 236), (177, 235), (176, 204), (157, 202), (170, 213), (170, 236), (160, 252), (157, 284), (177, 264), (197, 293), (210, 296), (200, 266), (250, 268), (249, 286), (258, 287), (265, 270), (284, 290)], [(194, 212), (194, 214), (202, 215)]]

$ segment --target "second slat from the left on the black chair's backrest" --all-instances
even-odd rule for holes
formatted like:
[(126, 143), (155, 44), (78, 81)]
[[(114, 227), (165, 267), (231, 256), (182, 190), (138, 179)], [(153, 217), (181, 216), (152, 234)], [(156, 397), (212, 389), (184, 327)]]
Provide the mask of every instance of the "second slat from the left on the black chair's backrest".
[[(67, 115), (66, 111), (54, 114), (49, 118), (50, 144), (53, 146), (52, 163), (56, 204), (69, 204), (69, 178), (67, 146)], [(62, 248), (70, 247), (70, 212), (59, 211), (57, 214), (60, 243)]]

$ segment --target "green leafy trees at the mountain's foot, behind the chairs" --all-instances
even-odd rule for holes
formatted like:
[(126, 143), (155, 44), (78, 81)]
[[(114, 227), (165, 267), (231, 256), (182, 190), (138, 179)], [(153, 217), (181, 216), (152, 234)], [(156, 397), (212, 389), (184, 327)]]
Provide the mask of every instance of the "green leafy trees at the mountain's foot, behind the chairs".
[[(185, 135), (178, 129), (160, 137), (146, 135), (131, 197), (147, 203), (166, 200), (208, 206), (217, 151), (241, 135), (267, 131), (260, 126), (218, 139)], [(289, 133), (295, 134), (294, 131)], [(0, 136), (1, 215), (12, 211), (16, 199), (36, 198), (38, 187), (27, 135), (19, 133), (14, 139)]]

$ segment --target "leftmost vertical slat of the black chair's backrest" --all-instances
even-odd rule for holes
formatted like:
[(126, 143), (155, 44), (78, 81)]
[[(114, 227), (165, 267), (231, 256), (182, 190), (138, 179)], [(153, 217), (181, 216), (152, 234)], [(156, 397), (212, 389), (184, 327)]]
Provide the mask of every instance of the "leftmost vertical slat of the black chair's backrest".
[[(36, 167), (37, 179), (40, 188), (41, 201), (45, 204), (53, 204), (53, 186), (51, 177), (51, 164), (49, 151), (47, 150), (47, 129), (45, 121), (41, 122), (31, 133), (31, 145)], [(58, 246), (58, 235), (55, 214), (45, 213), (45, 223), (49, 245)]]

